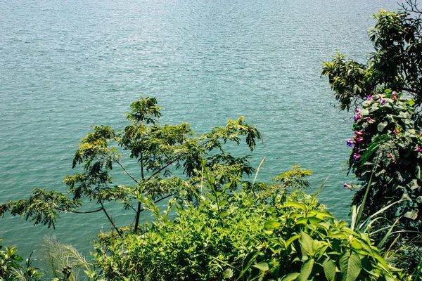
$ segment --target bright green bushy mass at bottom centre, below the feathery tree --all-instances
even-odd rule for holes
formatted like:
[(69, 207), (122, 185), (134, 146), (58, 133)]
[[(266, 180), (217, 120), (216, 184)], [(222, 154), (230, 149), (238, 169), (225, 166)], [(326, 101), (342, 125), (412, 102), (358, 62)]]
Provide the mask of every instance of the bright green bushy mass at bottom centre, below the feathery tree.
[[(156, 219), (141, 235), (100, 236), (95, 258), (106, 279), (395, 280), (366, 235), (335, 221), (314, 196), (288, 192), (290, 182), (231, 192), (234, 181), (219, 184), (206, 167), (202, 176), (197, 207), (145, 204)], [(299, 178), (306, 181), (291, 182)]]

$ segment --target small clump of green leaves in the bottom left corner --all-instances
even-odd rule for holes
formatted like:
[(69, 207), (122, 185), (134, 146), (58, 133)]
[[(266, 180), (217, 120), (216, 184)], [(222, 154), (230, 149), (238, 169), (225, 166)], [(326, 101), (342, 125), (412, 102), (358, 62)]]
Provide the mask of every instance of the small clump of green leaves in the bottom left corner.
[(25, 267), (23, 267), (20, 265), (23, 261), (22, 256), (16, 253), (15, 247), (5, 247), (3, 250), (3, 246), (0, 244), (0, 281), (41, 280), (43, 274), (32, 267), (31, 257), (26, 260)]

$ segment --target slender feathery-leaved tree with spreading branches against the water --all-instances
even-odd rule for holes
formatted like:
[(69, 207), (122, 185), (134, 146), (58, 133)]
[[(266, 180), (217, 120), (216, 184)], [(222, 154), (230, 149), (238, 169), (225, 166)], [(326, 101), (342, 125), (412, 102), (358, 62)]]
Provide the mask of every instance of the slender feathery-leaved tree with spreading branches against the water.
[[(94, 132), (82, 138), (79, 149), (75, 152), (73, 167), (82, 165), (83, 172), (66, 176), (63, 182), (68, 185), (69, 193), (35, 189), (27, 200), (17, 200), (0, 205), (0, 214), (10, 211), (13, 216), (24, 216), (34, 224), (44, 223), (53, 226), (59, 213), (94, 213), (102, 211), (118, 235), (120, 228), (104, 206), (105, 202), (121, 202), (127, 209), (134, 211), (133, 231), (139, 230), (140, 214), (144, 210), (143, 202), (156, 204), (170, 197), (179, 200), (195, 201), (198, 172), (202, 159), (207, 159), (207, 168), (211, 173), (219, 174), (220, 183), (228, 181), (227, 173), (237, 174), (234, 188), (242, 182), (243, 174), (253, 171), (248, 157), (233, 157), (224, 148), (228, 141), (241, 143), (241, 138), (250, 151), (255, 148), (261, 135), (255, 127), (245, 124), (241, 117), (229, 120), (225, 127), (215, 127), (210, 133), (196, 136), (190, 125), (161, 125), (160, 107), (156, 98), (140, 98), (132, 103), (132, 111), (127, 119), (132, 123), (123, 131), (115, 131), (110, 126), (95, 126)], [(139, 164), (138, 171), (129, 171), (124, 165), (122, 152), (129, 151), (129, 156)], [(117, 185), (113, 180), (115, 166), (133, 182), (132, 186)], [(183, 169), (182, 176), (173, 176), (172, 172)], [(84, 201), (98, 205), (93, 211), (81, 211)], [(135, 202), (135, 205), (133, 203)]]

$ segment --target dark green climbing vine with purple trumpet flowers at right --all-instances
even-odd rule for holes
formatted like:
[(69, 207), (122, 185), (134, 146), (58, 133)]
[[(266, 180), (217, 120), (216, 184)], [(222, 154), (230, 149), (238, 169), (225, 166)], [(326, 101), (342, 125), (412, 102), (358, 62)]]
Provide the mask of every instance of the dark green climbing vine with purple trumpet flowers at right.
[(392, 226), (400, 218), (397, 222), (406, 230), (419, 230), (422, 214), (421, 124), (413, 105), (390, 90), (367, 97), (355, 110), (354, 136), (347, 141), (352, 147), (349, 170), (364, 182), (352, 204), (361, 204), (367, 192), (367, 217), (397, 202), (380, 223)]

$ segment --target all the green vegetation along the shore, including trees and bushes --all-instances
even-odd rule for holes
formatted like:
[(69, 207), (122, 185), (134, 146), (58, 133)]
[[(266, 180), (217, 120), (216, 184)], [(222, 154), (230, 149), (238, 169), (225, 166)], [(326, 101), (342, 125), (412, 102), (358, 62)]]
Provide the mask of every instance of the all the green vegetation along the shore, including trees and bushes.
[[(53, 228), (61, 213), (102, 213), (112, 231), (98, 235), (92, 260), (46, 237), (39, 269), (0, 244), (0, 280), (422, 280), (422, 11), (416, 0), (402, 8), (374, 15), (368, 62), (337, 53), (323, 65), (340, 110), (354, 112), (351, 223), (319, 203), (325, 182), (305, 193), (311, 171), (293, 166), (262, 183), (265, 159), (255, 168), (231, 155), (262, 141), (243, 117), (198, 135), (161, 124), (158, 100), (141, 97), (123, 131), (95, 126), (80, 141), (68, 193), (35, 189), (0, 204), (2, 216)], [(116, 169), (132, 185), (117, 183)], [(121, 226), (108, 202), (134, 223)], [(153, 221), (141, 223), (146, 213)]]

